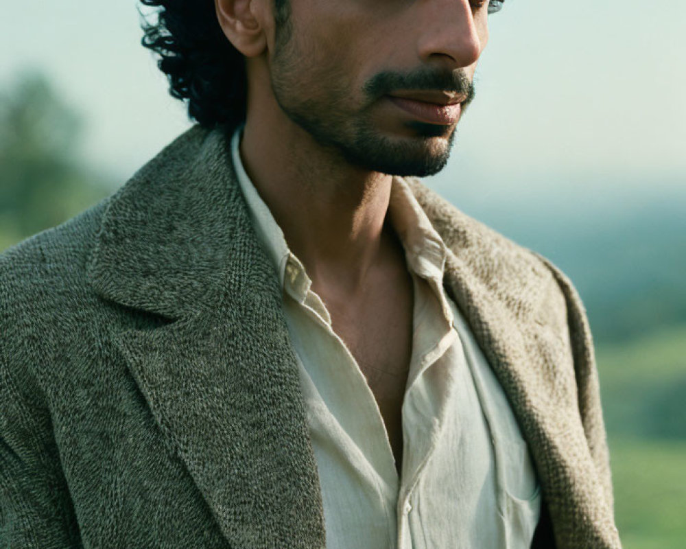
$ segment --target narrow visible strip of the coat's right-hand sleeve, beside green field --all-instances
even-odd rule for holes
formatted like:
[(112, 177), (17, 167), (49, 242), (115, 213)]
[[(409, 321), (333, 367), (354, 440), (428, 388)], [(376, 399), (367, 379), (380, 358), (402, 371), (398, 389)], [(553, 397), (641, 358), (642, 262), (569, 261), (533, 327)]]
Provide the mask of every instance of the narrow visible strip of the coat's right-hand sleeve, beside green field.
[(544, 257), (539, 256), (552, 270), (567, 302), (567, 323), (571, 340), (571, 352), (574, 360), (574, 373), (578, 388), (579, 412), (584, 433), (588, 441), (595, 469), (602, 482), (606, 504), (613, 511), (614, 497), (610, 471), (610, 457), (607, 435), (600, 405), (600, 383), (595, 364), (593, 339), (586, 310), (576, 288), (556, 266)]

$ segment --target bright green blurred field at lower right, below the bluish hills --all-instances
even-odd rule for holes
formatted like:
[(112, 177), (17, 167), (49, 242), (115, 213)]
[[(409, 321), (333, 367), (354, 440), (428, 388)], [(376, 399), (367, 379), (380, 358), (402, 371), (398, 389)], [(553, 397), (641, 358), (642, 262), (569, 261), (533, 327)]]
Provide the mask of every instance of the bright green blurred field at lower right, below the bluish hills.
[(598, 349), (625, 549), (686, 547), (686, 326)]

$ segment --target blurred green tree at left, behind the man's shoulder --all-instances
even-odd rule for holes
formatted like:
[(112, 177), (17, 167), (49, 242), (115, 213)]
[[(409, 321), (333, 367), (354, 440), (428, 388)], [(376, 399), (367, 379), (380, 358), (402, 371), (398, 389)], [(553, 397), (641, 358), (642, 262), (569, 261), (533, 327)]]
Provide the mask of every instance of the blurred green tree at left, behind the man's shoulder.
[(82, 120), (38, 74), (0, 93), (0, 250), (107, 194), (78, 160)]

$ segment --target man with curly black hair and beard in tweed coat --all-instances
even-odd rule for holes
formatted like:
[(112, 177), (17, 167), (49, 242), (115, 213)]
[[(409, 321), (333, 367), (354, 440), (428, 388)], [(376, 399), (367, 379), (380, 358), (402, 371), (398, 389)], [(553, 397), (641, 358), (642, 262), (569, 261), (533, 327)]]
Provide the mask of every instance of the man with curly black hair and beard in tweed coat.
[(618, 548), (576, 292), (409, 178), (500, 3), (145, 3), (200, 124), (2, 258), (3, 545)]

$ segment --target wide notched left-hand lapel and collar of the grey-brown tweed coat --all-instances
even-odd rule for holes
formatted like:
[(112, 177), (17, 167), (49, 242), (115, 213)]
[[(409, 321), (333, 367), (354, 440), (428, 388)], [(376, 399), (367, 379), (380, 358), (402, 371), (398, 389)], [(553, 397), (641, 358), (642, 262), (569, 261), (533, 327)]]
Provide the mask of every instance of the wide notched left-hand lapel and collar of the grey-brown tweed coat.
[(320, 548), (281, 291), (229, 158), (224, 135), (199, 128), (161, 152), (110, 203), (91, 279), (107, 299), (165, 318), (113, 337), (230, 546)]

